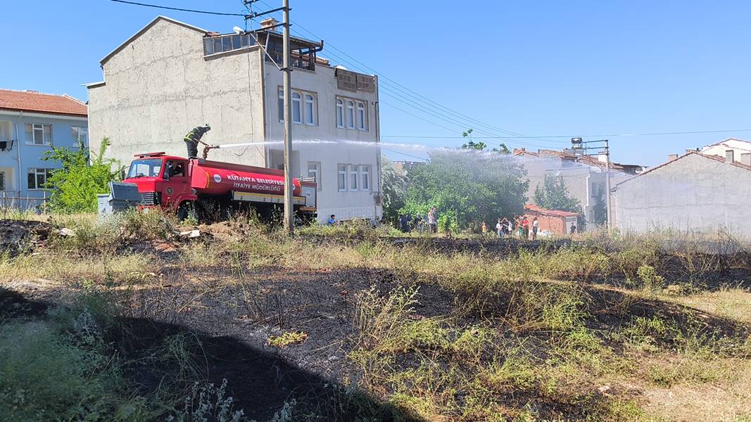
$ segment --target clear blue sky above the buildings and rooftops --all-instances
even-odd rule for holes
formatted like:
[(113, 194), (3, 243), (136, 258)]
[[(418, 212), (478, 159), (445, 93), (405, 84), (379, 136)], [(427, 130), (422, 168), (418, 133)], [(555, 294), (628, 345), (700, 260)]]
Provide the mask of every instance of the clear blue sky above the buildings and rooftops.
[[(140, 1), (243, 11), (240, 0)], [(158, 14), (219, 32), (243, 24), (107, 0), (5, 3), (0, 86), (82, 99), (80, 84), (102, 79), (99, 60)], [(264, 3), (281, 0), (256, 5), (270, 8)], [(382, 75), (385, 142), (457, 146), (463, 140), (451, 137), (466, 128), (477, 136), (562, 136), (484, 140), (537, 149), (566, 146), (572, 135), (751, 129), (751, 2), (291, 0), (291, 7), (293, 33), (323, 38), (321, 56)], [(615, 161), (654, 165), (725, 137), (751, 131), (609, 138)]]

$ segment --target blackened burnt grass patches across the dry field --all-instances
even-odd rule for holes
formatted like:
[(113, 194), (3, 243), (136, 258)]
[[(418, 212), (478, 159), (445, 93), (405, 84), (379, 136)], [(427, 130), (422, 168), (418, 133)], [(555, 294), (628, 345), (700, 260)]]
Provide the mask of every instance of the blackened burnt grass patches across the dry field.
[[(34, 230), (41, 230), (42, 234), (50, 230), (38, 227), (31, 228), (25, 237), (33, 236)], [(312, 239), (321, 247), (363, 240), (367, 239)], [(517, 254), (525, 248), (557, 249), (569, 244), (568, 241), (519, 243), (409, 238), (391, 241), (397, 246), (419, 243), (431, 253), (476, 252), (499, 257)], [(18, 248), (14, 246), (13, 250)], [(307, 271), (263, 267), (238, 274), (228, 263), (178, 270), (169, 263), (175, 261), (179, 252), (158, 252), (149, 244), (138, 244), (122, 248), (118, 253), (127, 254), (134, 250), (155, 253), (159, 258), (155, 263), (161, 263), (158, 264), (161, 268), (152, 269), (158, 274), (158, 282), (134, 291), (116, 293), (111, 298), (119, 303), (123, 315), (108, 331), (107, 340), (126, 362), (127, 378), (143, 393), (157, 390), (164, 378), (178, 368), (175, 363), (146, 357), (170, 336), (190, 333), (195, 339), (193, 355), (200, 362), (204, 379), (216, 385), (226, 379), (228, 396), (233, 397), (235, 408), (242, 408), (255, 420), (270, 419), (292, 399), (298, 403), (298, 412), (315, 414), (315, 420), (343, 421), (366, 417), (371, 420), (420, 420), (384, 404), (380, 397), (368, 396), (359, 390), (355, 394), (348, 393), (348, 386), (360, 382), (357, 368), (347, 357), (358, 334), (354, 312), (356, 295), (360, 291), (375, 288), (378, 294), (386, 297), (399, 285), (415, 285), (419, 289), (416, 318), (453, 315), (460, 324), (470, 325), (488, 316), (458, 312), (457, 303), (462, 303), (465, 298), (440, 288), (438, 283), (416, 281), (420, 277), (395, 274), (391, 270)], [(707, 285), (719, 286), (722, 280), (728, 280), (728, 274), (714, 274)], [(736, 279), (733, 274), (729, 277)], [(190, 280), (182, 279), (186, 275)], [(677, 321), (678, 327), (688, 324), (685, 309), (680, 306), (659, 300), (636, 300), (628, 293), (606, 285), (581, 284), (580, 288), (590, 300), (587, 303), (590, 315), (587, 327), (600, 333), (602, 341), (608, 342), (614, 350), (621, 347), (607, 334), (628, 324), (632, 318), (658, 316)], [(0, 288), (0, 321), (45, 318), (51, 306), (68, 306), (70, 303), (66, 297), (59, 291), (29, 295)], [(491, 316), (494, 312), (502, 315), (504, 305), (499, 303), (497, 309), (488, 309), (487, 312)], [(693, 315), (707, 333), (716, 336), (736, 336), (747, 330), (747, 327), (716, 315), (698, 311)], [(301, 344), (285, 348), (267, 344), (270, 336), (289, 331), (302, 331), (307, 338)], [(548, 334), (527, 335), (538, 339), (539, 354), (544, 355)], [(408, 352), (400, 356), (397, 365), (409, 368), (416, 362), (415, 355)], [(461, 395), (461, 391), (457, 395)], [(579, 419), (586, 416), (586, 409), (591, 407), (582, 402), (536, 397), (534, 391), (497, 399), (516, 408), (535, 402), (541, 417)], [(587, 397), (592, 402), (599, 399), (602, 395), (597, 393)]]

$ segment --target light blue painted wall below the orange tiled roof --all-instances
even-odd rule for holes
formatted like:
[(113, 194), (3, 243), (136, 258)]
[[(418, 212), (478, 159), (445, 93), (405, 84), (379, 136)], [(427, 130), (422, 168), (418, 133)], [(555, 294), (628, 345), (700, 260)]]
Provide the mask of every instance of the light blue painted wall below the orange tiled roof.
[[(10, 151), (0, 151), (0, 172), (5, 176), (5, 191), (0, 193), (0, 206), (11, 204), (3, 197), (44, 198), (50, 194), (44, 189), (29, 189), (30, 168), (56, 169), (59, 161), (44, 161), (44, 152), (51, 146), (36, 145), (26, 134), (26, 123), (52, 125), (52, 144), (60, 147), (76, 147), (77, 140), (71, 134), (71, 126), (86, 127), (85, 117), (56, 116), (42, 113), (20, 113), (0, 110), (0, 140), (14, 140)], [(20, 159), (20, 161), (19, 161)], [(14, 206), (36, 206), (37, 200), (12, 200)]]

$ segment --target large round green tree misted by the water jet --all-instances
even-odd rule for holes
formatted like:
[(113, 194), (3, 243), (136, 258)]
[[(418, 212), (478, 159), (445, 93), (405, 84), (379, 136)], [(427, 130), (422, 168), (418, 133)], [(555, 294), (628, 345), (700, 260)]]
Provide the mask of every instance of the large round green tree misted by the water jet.
[(409, 173), (403, 213), (439, 213), (439, 225), (452, 231), (472, 222), (523, 213), (524, 170), (516, 161), (479, 151), (434, 151), (430, 161)]

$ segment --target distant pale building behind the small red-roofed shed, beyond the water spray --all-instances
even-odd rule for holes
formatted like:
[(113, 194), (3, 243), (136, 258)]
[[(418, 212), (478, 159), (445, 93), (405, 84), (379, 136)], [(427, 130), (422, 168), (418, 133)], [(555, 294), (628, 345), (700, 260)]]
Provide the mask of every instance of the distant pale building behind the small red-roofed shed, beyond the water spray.
[[(526, 170), (529, 188), (526, 196), (528, 203), (535, 203), (535, 188), (542, 185), (545, 176), (562, 177), (569, 194), (579, 200), (584, 219), (590, 228), (605, 222), (606, 179), (605, 156), (592, 157), (581, 155), (569, 149), (555, 151), (539, 149), (537, 152), (525, 148), (514, 149), (514, 156)], [(640, 173), (644, 167), (634, 164), (611, 162), (611, 186)], [(584, 228), (587, 229), (586, 227)]]

